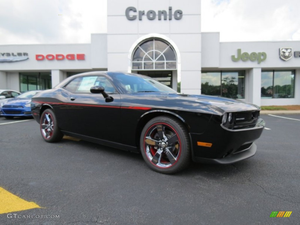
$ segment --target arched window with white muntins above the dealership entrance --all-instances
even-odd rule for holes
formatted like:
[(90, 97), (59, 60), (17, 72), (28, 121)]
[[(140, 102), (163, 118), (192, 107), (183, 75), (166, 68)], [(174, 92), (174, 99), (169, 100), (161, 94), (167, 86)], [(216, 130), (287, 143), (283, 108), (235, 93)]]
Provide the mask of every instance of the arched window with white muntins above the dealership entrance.
[(159, 39), (139, 44), (132, 56), (132, 70), (174, 70), (177, 58), (172, 46)]

